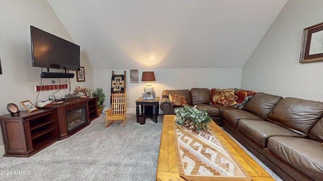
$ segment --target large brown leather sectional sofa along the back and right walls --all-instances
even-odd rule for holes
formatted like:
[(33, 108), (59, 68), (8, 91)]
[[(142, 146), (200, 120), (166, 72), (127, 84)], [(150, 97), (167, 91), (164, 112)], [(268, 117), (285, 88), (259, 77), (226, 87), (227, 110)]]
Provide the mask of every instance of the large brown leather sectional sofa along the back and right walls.
[(160, 109), (175, 114), (169, 94), (206, 109), (212, 119), (285, 180), (323, 179), (323, 103), (256, 93), (242, 108), (211, 106), (207, 88), (165, 90)]

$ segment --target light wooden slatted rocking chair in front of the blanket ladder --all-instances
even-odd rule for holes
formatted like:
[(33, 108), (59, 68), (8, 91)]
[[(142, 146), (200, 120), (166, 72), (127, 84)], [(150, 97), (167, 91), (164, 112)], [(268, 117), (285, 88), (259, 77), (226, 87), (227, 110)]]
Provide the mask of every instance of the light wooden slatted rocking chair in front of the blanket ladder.
[[(126, 93), (111, 94), (111, 108), (105, 111), (106, 125), (109, 127), (116, 120), (123, 120), (123, 126), (126, 125)], [(112, 121), (110, 124), (109, 121)]]

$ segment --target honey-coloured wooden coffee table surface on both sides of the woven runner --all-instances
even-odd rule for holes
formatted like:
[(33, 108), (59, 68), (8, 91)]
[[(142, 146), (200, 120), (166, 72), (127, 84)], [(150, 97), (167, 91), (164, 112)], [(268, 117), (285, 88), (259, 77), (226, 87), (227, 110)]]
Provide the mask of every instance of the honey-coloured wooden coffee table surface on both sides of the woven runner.
[[(175, 154), (174, 142), (174, 115), (165, 115), (163, 129), (161, 130), (159, 155), (156, 171), (156, 180), (185, 180), (180, 177)], [(256, 163), (229, 135), (227, 135), (213, 121), (210, 129), (217, 134), (218, 139), (224, 144), (246, 169), (249, 175), (256, 180), (274, 180), (262, 167)]]

